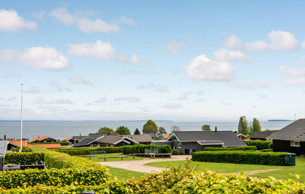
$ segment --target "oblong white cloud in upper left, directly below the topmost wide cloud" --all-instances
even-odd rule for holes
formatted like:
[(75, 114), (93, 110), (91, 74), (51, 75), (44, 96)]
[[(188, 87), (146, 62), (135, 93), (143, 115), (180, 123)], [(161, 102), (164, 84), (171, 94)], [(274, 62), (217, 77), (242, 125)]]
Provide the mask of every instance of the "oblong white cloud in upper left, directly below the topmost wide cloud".
[(117, 55), (111, 43), (100, 40), (96, 43), (68, 44), (68, 46), (70, 47), (69, 54), (73, 56), (90, 56), (111, 60)]

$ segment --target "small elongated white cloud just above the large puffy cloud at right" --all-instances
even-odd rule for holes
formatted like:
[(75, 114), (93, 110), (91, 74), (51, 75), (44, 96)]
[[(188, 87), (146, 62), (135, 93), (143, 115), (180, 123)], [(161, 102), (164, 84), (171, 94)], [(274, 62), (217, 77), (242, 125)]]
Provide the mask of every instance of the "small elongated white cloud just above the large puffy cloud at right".
[(242, 61), (242, 62), (251, 62), (250, 58), (243, 54), (241, 51), (229, 51), (227, 49), (220, 49), (214, 51), (214, 57), (218, 61)]

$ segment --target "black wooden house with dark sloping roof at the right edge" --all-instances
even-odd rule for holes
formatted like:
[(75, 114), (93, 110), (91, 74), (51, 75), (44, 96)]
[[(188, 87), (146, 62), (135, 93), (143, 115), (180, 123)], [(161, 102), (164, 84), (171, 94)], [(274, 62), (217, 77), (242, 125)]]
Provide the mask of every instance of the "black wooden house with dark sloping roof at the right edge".
[(298, 119), (267, 137), (272, 139), (273, 151), (305, 154), (305, 119)]

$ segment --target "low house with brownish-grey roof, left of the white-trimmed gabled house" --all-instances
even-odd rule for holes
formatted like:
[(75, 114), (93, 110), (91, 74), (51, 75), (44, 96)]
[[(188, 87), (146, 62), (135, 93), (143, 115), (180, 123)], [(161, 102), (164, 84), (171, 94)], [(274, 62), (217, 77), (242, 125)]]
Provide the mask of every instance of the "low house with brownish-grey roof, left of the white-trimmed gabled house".
[(153, 141), (150, 135), (109, 135), (97, 140), (100, 147), (118, 147), (136, 144), (150, 144)]

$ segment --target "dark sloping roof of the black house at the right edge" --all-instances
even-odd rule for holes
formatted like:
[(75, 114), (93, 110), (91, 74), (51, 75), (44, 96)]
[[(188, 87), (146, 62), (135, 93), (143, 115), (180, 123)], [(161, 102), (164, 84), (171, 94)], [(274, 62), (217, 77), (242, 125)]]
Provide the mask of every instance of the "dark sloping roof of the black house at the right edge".
[(305, 119), (298, 119), (267, 138), (279, 140), (305, 141)]

